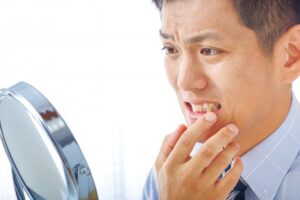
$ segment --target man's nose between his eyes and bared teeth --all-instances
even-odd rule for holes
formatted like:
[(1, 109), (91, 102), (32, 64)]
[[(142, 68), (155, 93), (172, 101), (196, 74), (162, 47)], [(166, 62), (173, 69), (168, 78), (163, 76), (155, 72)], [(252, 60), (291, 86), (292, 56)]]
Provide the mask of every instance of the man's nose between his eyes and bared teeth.
[(201, 63), (196, 59), (184, 56), (179, 66), (177, 86), (182, 91), (203, 90), (208, 80)]

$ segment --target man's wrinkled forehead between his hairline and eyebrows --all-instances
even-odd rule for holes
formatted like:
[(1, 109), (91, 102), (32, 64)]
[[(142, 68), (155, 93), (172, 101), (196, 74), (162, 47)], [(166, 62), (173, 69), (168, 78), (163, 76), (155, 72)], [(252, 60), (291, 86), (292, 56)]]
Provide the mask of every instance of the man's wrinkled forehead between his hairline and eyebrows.
[(240, 21), (232, 0), (166, 0), (162, 7), (162, 31), (191, 36), (213, 30), (237, 37)]

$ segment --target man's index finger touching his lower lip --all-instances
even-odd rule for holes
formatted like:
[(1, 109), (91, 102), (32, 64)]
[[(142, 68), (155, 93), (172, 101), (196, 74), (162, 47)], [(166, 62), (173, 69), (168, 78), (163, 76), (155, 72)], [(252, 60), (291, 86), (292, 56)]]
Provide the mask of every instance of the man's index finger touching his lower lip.
[(208, 112), (197, 120), (183, 133), (166, 162), (169, 164), (185, 162), (200, 136), (213, 126), (216, 119), (217, 116), (215, 113)]

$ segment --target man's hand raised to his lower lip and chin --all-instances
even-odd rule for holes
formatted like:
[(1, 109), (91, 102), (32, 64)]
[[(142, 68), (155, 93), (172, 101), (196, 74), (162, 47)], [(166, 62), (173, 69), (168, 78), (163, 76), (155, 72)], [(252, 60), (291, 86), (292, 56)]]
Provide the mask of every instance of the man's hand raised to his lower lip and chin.
[[(206, 113), (189, 129), (180, 125), (165, 138), (155, 163), (160, 200), (227, 198), (243, 168), (240, 159), (235, 158), (239, 146), (232, 142), (238, 132), (237, 127), (233, 124), (223, 127), (190, 157), (200, 136), (215, 121), (214, 113)], [(233, 159), (234, 166), (219, 180), (220, 174)]]

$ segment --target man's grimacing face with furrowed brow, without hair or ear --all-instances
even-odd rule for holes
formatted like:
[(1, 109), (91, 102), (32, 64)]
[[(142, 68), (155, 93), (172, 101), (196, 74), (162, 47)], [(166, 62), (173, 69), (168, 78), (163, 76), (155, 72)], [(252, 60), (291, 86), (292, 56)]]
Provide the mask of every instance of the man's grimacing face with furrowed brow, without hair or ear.
[[(262, 131), (280, 107), (279, 70), (229, 0), (171, 0), (162, 9), (161, 35), (168, 79), (188, 125), (207, 111), (240, 135)], [(275, 109), (276, 108), (276, 109)]]

